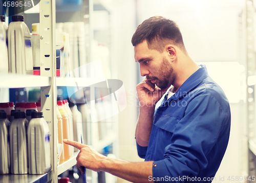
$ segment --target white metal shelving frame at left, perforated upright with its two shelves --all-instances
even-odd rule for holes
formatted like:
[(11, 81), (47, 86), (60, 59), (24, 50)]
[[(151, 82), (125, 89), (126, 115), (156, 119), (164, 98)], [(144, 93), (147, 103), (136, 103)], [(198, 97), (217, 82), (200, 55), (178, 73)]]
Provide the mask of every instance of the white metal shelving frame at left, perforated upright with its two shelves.
[(52, 170), (43, 175), (0, 175), (1, 182), (57, 182), (55, 1), (40, 1), (40, 75), (1, 75), (2, 88), (41, 87), (41, 111), (50, 129)]

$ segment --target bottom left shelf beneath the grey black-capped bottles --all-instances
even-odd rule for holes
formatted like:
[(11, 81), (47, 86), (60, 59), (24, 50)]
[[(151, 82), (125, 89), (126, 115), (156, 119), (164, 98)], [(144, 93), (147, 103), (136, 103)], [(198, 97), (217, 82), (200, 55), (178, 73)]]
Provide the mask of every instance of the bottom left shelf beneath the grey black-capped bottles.
[(16, 183), (16, 182), (26, 182), (26, 183), (47, 183), (52, 179), (52, 170), (49, 173), (42, 175), (0, 175), (0, 182)]

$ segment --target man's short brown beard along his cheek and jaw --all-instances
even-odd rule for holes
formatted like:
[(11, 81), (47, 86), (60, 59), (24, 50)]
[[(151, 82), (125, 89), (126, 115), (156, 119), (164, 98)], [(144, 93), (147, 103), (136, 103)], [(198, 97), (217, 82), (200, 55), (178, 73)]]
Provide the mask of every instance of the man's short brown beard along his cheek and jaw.
[(163, 89), (163, 88), (167, 88), (170, 85), (172, 85), (174, 79), (175, 79), (175, 74), (173, 72), (173, 66), (168, 62), (168, 60), (163, 57), (162, 59), (162, 64), (159, 70), (159, 76), (158, 77), (147, 77), (147, 79), (156, 79), (155, 84)]

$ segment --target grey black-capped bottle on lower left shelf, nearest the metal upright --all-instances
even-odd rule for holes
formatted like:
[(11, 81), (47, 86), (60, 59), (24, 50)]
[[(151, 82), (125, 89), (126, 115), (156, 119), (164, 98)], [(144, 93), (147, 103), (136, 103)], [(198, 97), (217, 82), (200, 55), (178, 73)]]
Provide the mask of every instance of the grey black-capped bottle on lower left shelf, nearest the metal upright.
[(29, 174), (44, 174), (52, 169), (49, 133), (42, 112), (32, 112), (28, 125)]

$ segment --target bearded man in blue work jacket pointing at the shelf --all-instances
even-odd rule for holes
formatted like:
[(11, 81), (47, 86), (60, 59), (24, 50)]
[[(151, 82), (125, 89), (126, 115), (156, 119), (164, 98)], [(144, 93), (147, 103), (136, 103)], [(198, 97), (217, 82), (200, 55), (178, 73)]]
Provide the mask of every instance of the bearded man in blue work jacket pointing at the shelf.
[(86, 167), (132, 182), (211, 182), (229, 139), (230, 107), (223, 90), (204, 65), (188, 56), (174, 21), (160, 16), (143, 21), (132, 43), (145, 76), (137, 85), (136, 127), (138, 154), (145, 162), (111, 159), (65, 140), (80, 149), (77, 167), (81, 172)]

